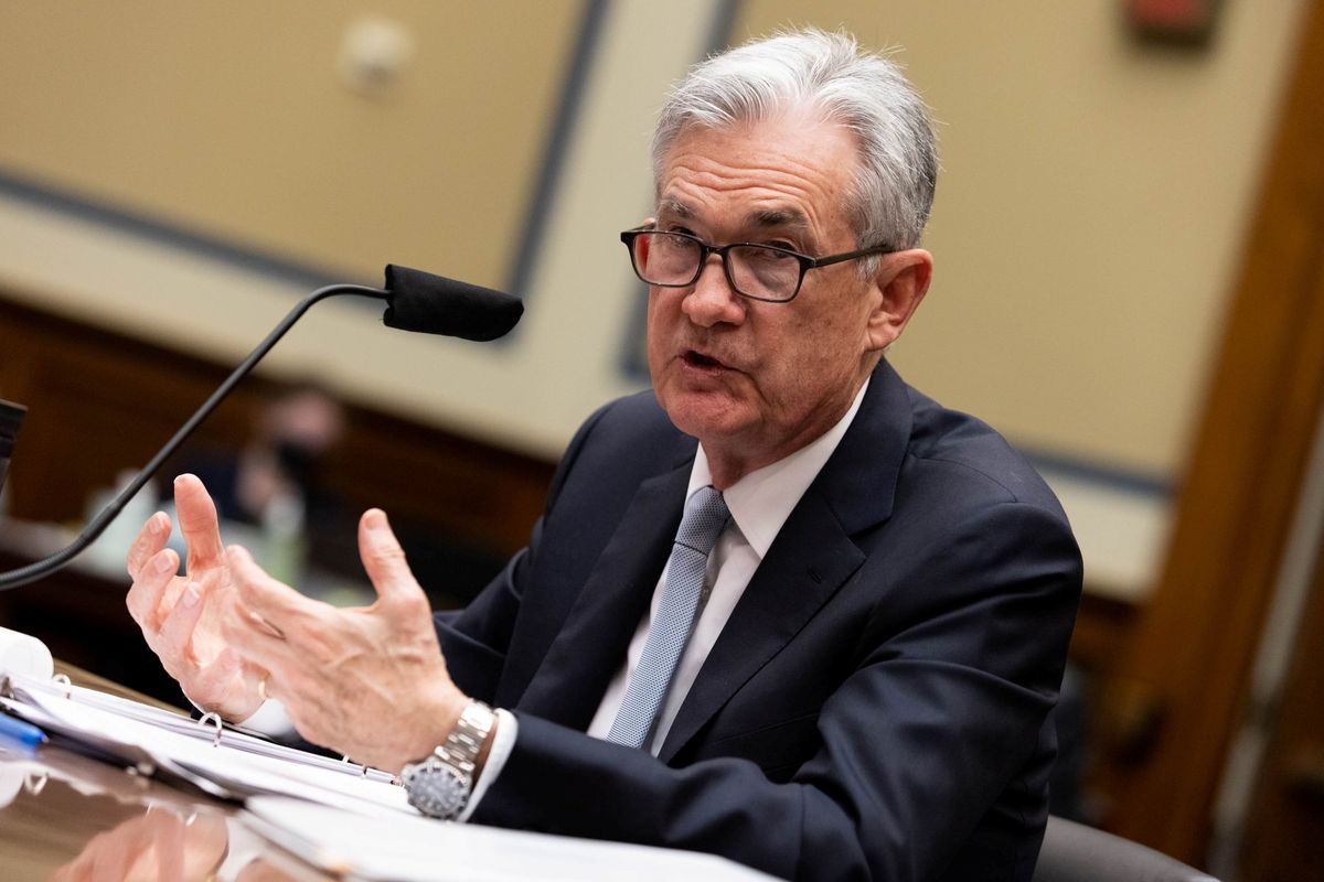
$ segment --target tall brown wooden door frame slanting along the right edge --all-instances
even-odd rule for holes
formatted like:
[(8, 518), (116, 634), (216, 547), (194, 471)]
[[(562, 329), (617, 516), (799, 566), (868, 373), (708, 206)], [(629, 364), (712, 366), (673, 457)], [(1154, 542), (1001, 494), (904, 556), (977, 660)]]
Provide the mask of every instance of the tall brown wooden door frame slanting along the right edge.
[(1193, 863), (1324, 409), (1324, 5), (1307, 9), (1166, 566), (1107, 707), (1112, 828)]

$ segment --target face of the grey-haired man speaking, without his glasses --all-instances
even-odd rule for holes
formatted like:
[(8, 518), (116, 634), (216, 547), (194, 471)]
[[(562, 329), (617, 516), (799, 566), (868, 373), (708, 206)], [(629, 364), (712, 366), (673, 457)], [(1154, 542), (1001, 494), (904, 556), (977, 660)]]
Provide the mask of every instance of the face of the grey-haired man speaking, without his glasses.
[[(851, 251), (845, 205), (857, 161), (849, 131), (801, 115), (690, 127), (662, 168), (657, 229), (812, 257)], [(849, 409), (874, 354), (891, 341), (871, 321), (880, 299), (876, 280), (845, 262), (810, 270), (790, 303), (753, 301), (730, 288), (710, 257), (692, 286), (649, 292), (658, 401), (710, 460), (735, 464), (737, 477), (776, 461)]]

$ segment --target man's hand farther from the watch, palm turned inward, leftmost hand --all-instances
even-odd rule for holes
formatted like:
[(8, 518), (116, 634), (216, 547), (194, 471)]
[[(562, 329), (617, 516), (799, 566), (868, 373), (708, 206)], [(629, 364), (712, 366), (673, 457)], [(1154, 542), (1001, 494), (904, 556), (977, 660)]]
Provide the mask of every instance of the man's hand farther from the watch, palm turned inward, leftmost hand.
[(242, 661), (221, 637), (222, 620), (244, 612), (225, 562), (216, 505), (197, 477), (180, 475), (175, 509), (188, 546), (184, 575), (176, 575), (179, 555), (166, 547), (169, 517), (158, 512), (128, 549), (134, 579), (128, 612), (195, 705), (242, 721), (262, 705), (266, 672)]

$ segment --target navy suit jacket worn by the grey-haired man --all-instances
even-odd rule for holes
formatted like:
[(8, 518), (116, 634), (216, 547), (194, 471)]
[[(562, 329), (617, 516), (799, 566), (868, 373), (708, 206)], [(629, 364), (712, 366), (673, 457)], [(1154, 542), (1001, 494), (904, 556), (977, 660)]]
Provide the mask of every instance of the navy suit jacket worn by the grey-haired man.
[(988, 426), (880, 362), (661, 756), (584, 734), (670, 553), (696, 442), (651, 393), (594, 414), (543, 518), (437, 618), (519, 738), (474, 820), (724, 854), (798, 879), (1029, 879), (1080, 557)]

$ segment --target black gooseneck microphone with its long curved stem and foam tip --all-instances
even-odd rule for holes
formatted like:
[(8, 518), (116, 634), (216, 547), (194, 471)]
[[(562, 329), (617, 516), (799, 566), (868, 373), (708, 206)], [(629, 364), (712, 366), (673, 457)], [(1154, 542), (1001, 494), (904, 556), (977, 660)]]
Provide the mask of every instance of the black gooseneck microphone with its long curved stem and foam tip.
[(387, 266), (385, 288), (369, 288), (361, 284), (330, 284), (318, 288), (290, 309), (271, 333), (234, 369), (234, 373), (225, 378), (225, 382), (212, 393), (212, 397), (203, 402), (203, 406), (188, 418), (188, 422), (175, 432), (175, 436), (166, 442), (166, 446), (138, 472), (138, 477), (83, 528), (77, 540), (36, 563), (0, 573), (0, 591), (17, 588), (50, 575), (91, 545), (124, 509), (128, 500), (146, 487), (152, 475), (179, 450), (179, 446), (193, 434), (193, 430), (216, 410), (240, 380), (253, 370), (257, 362), (271, 350), (314, 303), (346, 294), (385, 300), (387, 311), (381, 316), (381, 321), (391, 328), (440, 333), (475, 341), (495, 340), (503, 336), (515, 327), (524, 312), (524, 304), (519, 298), (512, 298), (508, 294), (395, 264)]

